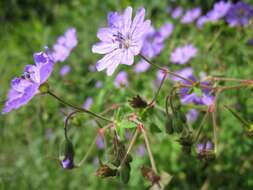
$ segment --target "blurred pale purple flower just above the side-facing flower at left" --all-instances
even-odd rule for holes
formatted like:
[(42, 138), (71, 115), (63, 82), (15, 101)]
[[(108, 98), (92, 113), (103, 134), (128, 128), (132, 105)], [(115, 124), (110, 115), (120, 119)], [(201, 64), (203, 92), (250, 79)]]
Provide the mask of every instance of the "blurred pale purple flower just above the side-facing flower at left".
[(56, 44), (53, 46), (51, 56), (55, 62), (63, 62), (67, 59), (70, 52), (77, 45), (76, 29), (69, 28), (63, 36), (57, 39)]

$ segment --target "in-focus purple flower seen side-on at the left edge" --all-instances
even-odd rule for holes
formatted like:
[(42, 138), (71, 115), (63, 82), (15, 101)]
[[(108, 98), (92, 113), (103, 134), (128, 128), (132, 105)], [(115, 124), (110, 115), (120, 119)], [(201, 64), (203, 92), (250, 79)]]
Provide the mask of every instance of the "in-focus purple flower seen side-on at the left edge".
[(11, 81), (2, 113), (8, 113), (27, 104), (39, 92), (41, 84), (45, 83), (53, 71), (54, 62), (47, 53), (34, 54), (35, 65), (26, 65), (23, 75)]

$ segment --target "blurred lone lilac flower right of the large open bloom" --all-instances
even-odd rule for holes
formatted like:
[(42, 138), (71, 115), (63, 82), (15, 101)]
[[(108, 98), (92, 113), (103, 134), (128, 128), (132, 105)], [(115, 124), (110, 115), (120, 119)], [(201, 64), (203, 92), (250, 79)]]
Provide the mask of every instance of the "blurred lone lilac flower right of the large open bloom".
[(176, 48), (170, 55), (170, 61), (175, 64), (185, 64), (195, 57), (196, 54), (197, 49), (193, 45), (187, 44)]

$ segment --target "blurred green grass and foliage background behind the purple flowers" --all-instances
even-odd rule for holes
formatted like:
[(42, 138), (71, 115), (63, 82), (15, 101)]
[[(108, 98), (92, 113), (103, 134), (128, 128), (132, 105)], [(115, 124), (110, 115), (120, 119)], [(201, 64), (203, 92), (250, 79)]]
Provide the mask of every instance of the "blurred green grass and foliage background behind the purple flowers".
[[(250, 2), (250, 0), (248, 1)], [(184, 9), (202, 6), (204, 11), (212, 7), (212, 1), (169, 0), (2, 0), (0, 1), (0, 97), (6, 97), (11, 79), (20, 76), (27, 63), (33, 63), (32, 54), (51, 47), (58, 36), (69, 27), (75, 27), (78, 46), (71, 56), (59, 63), (49, 79), (54, 92), (82, 105), (91, 96), (94, 104), (91, 110), (102, 112), (113, 103), (127, 104), (137, 91), (151, 100), (153, 95), (154, 69), (139, 75), (133, 74), (133, 67), (120, 66), (129, 73), (129, 87), (116, 89), (115, 75), (106, 77), (104, 72), (89, 72), (99, 55), (91, 53), (91, 45), (98, 40), (98, 28), (106, 25), (109, 11), (123, 10), (130, 5), (135, 10), (145, 7), (146, 18), (159, 27), (167, 21), (175, 25), (172, 36), (166, 41), (166, 48), (157, 63), (172, 70), (183, 68), (169, 64), (169, 53), (178, 45), (190, 42), (198, 48), (198, 56), (191, 62), (195, 73), (220, 74), (238, 78), (252, 78), (252, 47), (247, 45), (252, 28), (229, 28), (223, 21), (210, 24), (199, 30), (194, 24), (184, 26), (172, 20), (166, 12), (168, 6), (182, 6)], [(137, 58), (138, 59), (138, 58)], [(136, 60), (137, 60), (136, 59)], [(63, 78), (59, 75), (61, 66), (68, 64), (71, 72)], [(96, 89), (95, 82), (104, 86)], [(172, 84), (166, 82), (158, 104), (164, 106)], [(202, 162), (196, 155), (182, 151), (176, 136), (162, 133), (150, 134), (151, 148), (159, 170), (164, 170), (173, 179), (167, 189), (253, 189), (253, 143), (241, 124), (224, 110), (222, 104), (234, 106), (245, 118), (253, 121), (252, 89), (230, 91), (220, 97), (219, 155), (213, 162)], [(127, 106), (126, 106), (127, 107)], [(149, 165), (147, 155), (138, 156), (133, 150), (131, 179), (123, 185), (117, 179), (100, 179), (95, 176), (98, 168), (97, 155), (103, 153), (94, 149), (88, 161), (80, 168), (65, 171), (58, 159), (64, 135), (63, 123), (66, 108), (48, 96), (36, 96), (27, 106), (7, 115), (0, 116), (0, 189), (145, 189), (148, 183), (139, 170), (142, 164)], [(186, 110), (187, 111), (187, 110)], [(131, 112), (129, 107), (122, 114)], [(112, 115), (112, 114), (111, 114)], [(164, 117), (153, 113), (153, 121), (164, 131)], [(110, 116), (110, 115), (108, 115)], [(78, 116), (71, 126), (70, 136), (75, 146), (78, 162), (90, 146), (97, 133), (97, 127), (89, 117)], [(199, 120), (193, 127), (197, 128)], [(147, 128), (149, 126), (147, 125)], [(149, 129), (148, 129), (149, 130)], [(207, 123), (205, 133), (212, 138), (212, 126)], [(203, 188), (203, 189), (204, 189)]]

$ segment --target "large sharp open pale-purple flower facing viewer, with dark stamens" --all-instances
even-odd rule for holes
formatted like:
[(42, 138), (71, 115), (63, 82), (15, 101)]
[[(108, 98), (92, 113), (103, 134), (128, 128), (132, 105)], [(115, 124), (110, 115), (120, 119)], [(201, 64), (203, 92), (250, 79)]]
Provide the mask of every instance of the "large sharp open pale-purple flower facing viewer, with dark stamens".
[(93, 53), (106, 54), (96, 64), (98, 71), (107, 69), (112, 75), (119, 64), (132, 65), (134, 56), (141, 51), (143, 40), (150, 28), (150, 20), (144, 21), (145, 9), (137, 11), (132, 21), (132, 8), (123, 14), (109, 13), (109, 27), (101, 28), (97, 37), (101, 42), (92, 46)]

